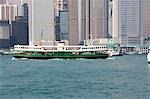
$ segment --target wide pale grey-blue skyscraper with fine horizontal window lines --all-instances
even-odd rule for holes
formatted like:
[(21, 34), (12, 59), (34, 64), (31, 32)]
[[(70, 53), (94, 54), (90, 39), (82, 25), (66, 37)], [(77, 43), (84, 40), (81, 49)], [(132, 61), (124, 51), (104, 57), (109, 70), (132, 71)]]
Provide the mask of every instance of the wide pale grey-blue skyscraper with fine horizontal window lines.
[(114, 42), (124, 45), (143, 44), (143, 1), (113, 0)]

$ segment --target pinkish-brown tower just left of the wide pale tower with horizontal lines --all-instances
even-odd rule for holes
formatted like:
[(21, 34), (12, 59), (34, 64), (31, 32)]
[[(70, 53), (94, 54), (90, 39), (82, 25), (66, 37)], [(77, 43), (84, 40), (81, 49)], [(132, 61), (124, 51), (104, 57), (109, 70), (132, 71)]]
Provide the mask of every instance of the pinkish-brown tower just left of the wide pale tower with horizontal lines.
[(108, 0), (90, 2), (91, 35), (94, 39), (108, 36)]

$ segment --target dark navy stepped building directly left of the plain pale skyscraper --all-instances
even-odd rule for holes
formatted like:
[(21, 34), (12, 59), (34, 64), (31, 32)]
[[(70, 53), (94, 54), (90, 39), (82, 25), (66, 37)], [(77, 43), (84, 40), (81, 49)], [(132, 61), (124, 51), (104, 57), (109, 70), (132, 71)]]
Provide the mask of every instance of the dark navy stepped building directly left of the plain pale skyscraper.
[(17, 16), (15, 21), (12, 21), (12, 35), (10, 43), (13, 47), (16, 44), (28, 45), (28, 5), (23, 4), (24, 16)]

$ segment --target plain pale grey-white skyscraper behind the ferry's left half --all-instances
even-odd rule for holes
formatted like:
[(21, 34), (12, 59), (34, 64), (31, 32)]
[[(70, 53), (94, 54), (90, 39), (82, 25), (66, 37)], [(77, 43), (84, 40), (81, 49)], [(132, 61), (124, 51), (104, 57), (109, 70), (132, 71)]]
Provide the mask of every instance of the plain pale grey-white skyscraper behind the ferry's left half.
[[(54, 40), (53, 0), (31, 0), (29, 2), (29, 42)], [(42, 36), (42, 37), (41, 37)]]

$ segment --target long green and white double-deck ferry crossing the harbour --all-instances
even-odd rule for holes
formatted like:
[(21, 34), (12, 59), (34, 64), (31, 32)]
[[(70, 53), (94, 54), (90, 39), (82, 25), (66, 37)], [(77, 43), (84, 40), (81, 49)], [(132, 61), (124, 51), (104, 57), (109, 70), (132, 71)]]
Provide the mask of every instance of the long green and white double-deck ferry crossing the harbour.
[(12, 56), (15, 58), (28, 58), (28, 59), (97, 59), (108, 58), (106, 53), (107, 47), (104, 45), (78, 45), (69, 46), (64, 42), (59, 42), (57, 46), (46, 45), (15, 45), (12, 50)]

